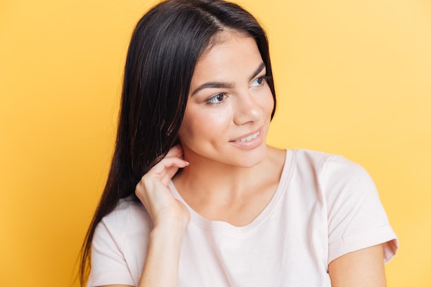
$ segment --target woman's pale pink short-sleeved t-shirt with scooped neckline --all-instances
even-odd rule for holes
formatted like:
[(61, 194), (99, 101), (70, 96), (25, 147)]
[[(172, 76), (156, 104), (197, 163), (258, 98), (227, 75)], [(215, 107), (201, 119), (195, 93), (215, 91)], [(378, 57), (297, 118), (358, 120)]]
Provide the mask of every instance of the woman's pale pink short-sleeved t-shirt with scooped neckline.
[[(179, 287), (325, 287), (333, 259), (386, 242), (388, 262), (398, 248), (368, 173), (326, 153), (288, 150), (271, 202), (246, 226), (206, 220), (186, 206)], [(151, 227), (140, 202), (120, 200), (96, 228), (87, 286), (136, 286)]]

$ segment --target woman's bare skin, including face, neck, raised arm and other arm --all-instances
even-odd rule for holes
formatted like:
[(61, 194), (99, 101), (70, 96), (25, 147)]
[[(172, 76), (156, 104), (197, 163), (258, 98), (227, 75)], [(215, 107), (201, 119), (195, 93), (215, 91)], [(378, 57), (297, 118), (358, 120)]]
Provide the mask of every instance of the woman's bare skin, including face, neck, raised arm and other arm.
[[(196, 65), (179, 133), (181, 147), (173, 147), (136, 186), (154, 223), (138, 287), (178, 286), (190, 215), (171, 194), (170, 180), (202, 217), (234, 226), (252, 222), (280, 180), (285, 151), (265, 143), (273, 98), (260, 52), (255, 41), (240, 32), (219, 36), (219, 43)], [(328, 272), (333, 287), (386, 286), (383, 247), (341, 256), (329, 264)]]

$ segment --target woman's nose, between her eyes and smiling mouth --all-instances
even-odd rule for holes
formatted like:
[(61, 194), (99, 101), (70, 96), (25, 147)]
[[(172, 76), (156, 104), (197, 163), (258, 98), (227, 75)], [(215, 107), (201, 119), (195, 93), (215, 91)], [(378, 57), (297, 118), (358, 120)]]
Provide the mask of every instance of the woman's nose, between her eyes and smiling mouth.
[(255, 123), (262, 118), (263, 110), (253, 95), (245, 92), (235, 97), (233, 122), (236, 125)]

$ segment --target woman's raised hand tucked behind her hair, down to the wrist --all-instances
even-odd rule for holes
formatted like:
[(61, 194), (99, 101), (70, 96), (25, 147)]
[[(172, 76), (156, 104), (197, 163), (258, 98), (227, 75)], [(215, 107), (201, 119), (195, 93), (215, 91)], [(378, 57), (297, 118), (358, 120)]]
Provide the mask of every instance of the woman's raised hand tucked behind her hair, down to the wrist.
[(189, 211), (182, 202), (174, 198), (168, 187), (178, 169), (187, 165), (189, 162), (182, 159), (182, 148), (176, 145), (136, 184), (136, 196), (151, 216), (154, 228), (174, 224), (180, 229), (184, 228), (184, 231), (189, 223)]

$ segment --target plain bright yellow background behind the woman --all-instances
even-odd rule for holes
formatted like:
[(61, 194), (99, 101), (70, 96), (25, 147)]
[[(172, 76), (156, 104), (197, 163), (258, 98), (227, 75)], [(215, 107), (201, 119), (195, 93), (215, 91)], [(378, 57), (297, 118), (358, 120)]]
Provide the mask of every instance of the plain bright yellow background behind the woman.
[[(129, 35), (154, 1), (0, 1), (0, 285), (78, 286)], [(401, 249), (388, 286), (431, 286), (431, 3), (242, 1), (269, 31), (269, 142), (374, 178)]]

